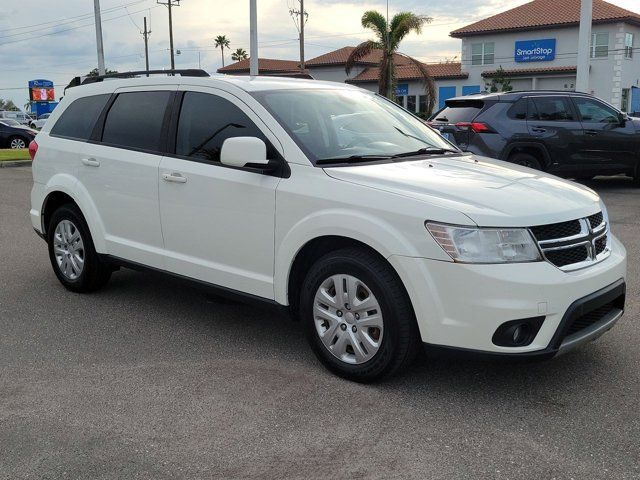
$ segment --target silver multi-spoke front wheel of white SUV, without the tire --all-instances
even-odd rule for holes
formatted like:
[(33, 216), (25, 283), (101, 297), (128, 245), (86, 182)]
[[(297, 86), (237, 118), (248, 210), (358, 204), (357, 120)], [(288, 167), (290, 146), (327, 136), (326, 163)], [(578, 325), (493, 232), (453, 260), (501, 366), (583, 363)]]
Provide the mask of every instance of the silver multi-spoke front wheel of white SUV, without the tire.
[(313, 317), (324, 347), (345, 363), (371, 360), (382, 344), (380, 303), (371, 289), (352, 275), (333, 275), (320, 284)]

